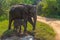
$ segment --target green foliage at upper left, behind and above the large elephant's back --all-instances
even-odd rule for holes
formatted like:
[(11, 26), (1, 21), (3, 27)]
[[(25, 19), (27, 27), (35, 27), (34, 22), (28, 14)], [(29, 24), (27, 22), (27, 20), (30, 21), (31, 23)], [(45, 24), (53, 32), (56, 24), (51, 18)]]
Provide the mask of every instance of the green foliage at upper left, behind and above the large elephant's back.
[[(9, 10), (15, 4), (32, 4), (32, 0), (0, 0), (0, 18), (9, 16)], [(2, 18), (3, 19), (3, 18)]]

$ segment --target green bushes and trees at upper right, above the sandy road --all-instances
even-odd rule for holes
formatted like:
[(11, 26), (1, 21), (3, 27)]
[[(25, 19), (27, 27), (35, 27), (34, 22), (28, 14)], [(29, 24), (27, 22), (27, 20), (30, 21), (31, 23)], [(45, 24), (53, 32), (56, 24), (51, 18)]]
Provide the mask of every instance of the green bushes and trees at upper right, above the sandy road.
[(39, 15), (60, 18), (60, 2), (58, 0), (42, 0), (37, 8)]

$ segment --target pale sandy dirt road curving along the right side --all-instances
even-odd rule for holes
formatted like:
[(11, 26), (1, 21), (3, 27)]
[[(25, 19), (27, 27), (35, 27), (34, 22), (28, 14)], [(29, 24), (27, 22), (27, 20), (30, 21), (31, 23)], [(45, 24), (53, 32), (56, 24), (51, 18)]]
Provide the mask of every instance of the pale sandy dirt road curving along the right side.
[(60, 20), (37, 16), (37, 21), (50, 25), (56, 32), (56, 40), (60, 40)]

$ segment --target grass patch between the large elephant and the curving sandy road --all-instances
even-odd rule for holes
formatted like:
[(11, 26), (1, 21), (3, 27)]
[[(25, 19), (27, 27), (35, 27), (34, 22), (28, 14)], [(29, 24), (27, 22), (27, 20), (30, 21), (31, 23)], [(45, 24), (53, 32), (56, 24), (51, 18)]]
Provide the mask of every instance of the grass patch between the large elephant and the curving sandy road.
[(54, 30), (47, 24), (42, 22), (37, 22), (36, 27), (36, 37), (40, 38), (40, 40), (54, 40), (55, 32)]

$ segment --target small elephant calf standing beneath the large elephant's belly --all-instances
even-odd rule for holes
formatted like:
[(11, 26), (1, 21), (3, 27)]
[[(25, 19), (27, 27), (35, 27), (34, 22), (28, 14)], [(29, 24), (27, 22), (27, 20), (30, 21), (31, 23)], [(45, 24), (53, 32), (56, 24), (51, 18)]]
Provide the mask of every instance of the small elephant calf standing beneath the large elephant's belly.
[(21, 26), (23, 25), (25, 27), (24, 20), (23, 19), (14, 19), (14, 31), (16, 31), (17, 33), (20, 32), (21, 33)]

